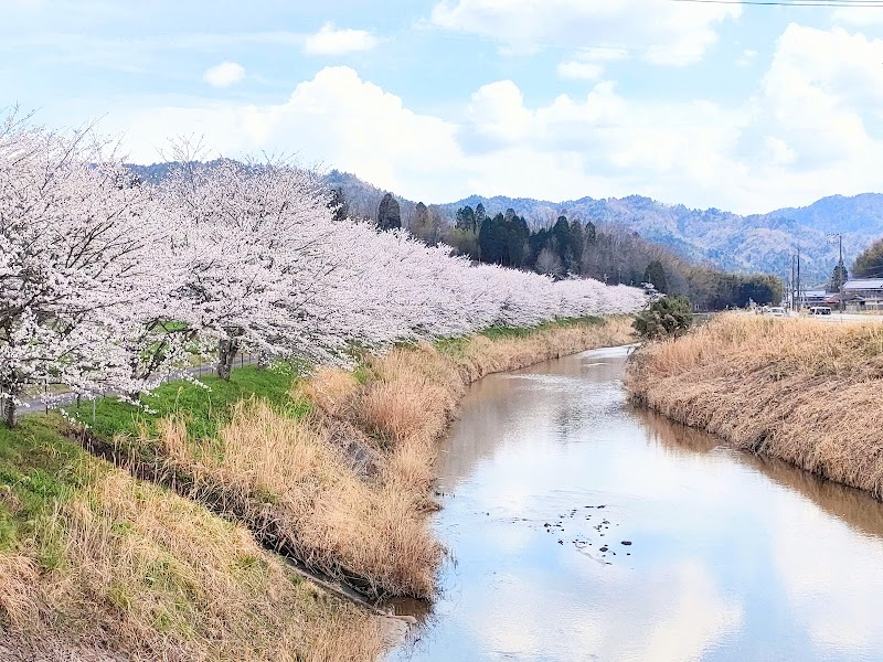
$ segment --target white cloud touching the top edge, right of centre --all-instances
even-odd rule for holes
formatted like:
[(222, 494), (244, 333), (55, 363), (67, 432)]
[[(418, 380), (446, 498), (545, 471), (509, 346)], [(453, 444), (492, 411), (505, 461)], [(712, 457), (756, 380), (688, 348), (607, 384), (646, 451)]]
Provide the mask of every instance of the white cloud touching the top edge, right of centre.
[(717, 40), (715, 28), (741, 13), (737, 4), (668, 0), (443, 0), (432, 20), (509, 50), (627, 44), (648, 62), (682, 66), (702, 60)]

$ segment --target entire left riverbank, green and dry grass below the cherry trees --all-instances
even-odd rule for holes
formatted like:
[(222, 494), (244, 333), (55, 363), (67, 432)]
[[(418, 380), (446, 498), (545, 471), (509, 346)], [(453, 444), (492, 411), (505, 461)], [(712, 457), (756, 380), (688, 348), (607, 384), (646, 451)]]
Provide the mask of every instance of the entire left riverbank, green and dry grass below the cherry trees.
[(380, 620), (284, 557), (374, 598), (432, 597), (434, 441), (465, 386), (630, 333), (625, 318), (492, 329), (351, 373), (167, 384), (148, 409), (74, 413), (88, 429), (51, 416), (3, 430), (0, 652), (375, 659)]

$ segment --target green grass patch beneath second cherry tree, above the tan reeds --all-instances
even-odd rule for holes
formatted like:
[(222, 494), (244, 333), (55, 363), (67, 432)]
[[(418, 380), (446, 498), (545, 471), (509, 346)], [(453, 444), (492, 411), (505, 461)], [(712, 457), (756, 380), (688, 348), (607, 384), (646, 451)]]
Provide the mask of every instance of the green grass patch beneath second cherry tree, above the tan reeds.
[(297, 372), (285, 365), (269, 370), (245, 366), (235, 369), (228, 382), (214, 375), (200, 377), (205, 388), (188, 381), (163, 384), (141, 396), (150, 412), (113, 397), (96, 401), (94, 419), (92, 403), (71, 407), (70, 412), (107, 440), (117, 434), (137, 436), (142, 426), (152, 433), (157, 421), (179, 414), (185, 415), (191, 438), (210, 438), (228, 420), (233, 406), (251, 397), (265, 399), (289, 416), (306, 415), (309, 403), (292, 401), (289, 395)]

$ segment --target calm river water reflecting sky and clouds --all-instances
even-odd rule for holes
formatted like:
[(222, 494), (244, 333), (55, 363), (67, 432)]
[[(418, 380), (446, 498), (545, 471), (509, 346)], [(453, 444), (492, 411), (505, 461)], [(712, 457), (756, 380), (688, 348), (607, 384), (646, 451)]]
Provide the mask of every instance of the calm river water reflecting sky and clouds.
[(883, 660), (883, 506), (632, 407), (627, 351), (471, 386), (390, 660)]

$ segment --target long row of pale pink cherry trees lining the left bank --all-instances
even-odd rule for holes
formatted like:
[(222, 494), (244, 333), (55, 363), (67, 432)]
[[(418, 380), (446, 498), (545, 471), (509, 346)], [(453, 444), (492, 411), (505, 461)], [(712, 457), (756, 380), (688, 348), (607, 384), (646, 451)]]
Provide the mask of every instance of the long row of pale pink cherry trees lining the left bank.
[[(181, 163), (146, 184), (91, 131), (0, 126), (0, 403), (29, 386), (86, 397), (155, 387), (194, 352), (344, 361), (353, 344), (630, 312), (643, 295), (471, 265), (334, 214), (284, 161)], [(337, 216), (337, 217), (336, 217)]]

